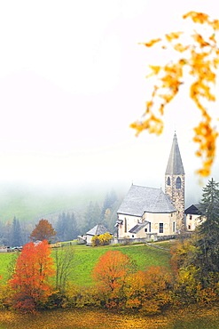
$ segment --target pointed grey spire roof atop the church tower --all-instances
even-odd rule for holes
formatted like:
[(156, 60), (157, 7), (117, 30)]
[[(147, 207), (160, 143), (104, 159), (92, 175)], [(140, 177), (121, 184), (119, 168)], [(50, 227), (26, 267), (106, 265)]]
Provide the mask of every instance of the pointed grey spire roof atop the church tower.
[(174, 140), (170, 155), (168, 157), (168, 166), (166, 169), (166, 175), (184, 175), (184, 165), (180, 156), (178, 142), (176, 138), (176, 132), (174, 134)]

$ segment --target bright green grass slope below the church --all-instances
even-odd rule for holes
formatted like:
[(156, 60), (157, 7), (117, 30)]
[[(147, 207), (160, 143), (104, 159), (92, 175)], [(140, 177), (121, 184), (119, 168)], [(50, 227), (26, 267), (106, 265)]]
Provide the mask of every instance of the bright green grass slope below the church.
[[(170, 254), (166, 251), (148, 247), (145, 245), (127, 245), (127, 246), (105, 246), (88, 247), (86, 245), (75, 245), (74, 263), (71, 269), (69, 280), (75, 285), (92, 285), (91, 270), (94, 268), (98, 258), (108, 250), (119, 250), (121, 253), (127, 253), (137, 263), (137, 269), (145, 269), (147, 266), (165, 266), (169, 267), (168, 260)], [(53, 254), (55, 252), (53, 251)], [(15, 257), (14, 253), (0, 253), (0, 275), (7, 278), (7, 267)]]

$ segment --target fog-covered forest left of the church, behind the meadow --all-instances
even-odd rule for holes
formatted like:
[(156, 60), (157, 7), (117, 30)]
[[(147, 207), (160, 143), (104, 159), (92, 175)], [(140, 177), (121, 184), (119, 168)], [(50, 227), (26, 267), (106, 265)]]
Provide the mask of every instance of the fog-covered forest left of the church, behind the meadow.
[[(107, 191), (105, 197), (98, 197), (98, 201), (87, 201), (88, 197), (84, 197), (80, 201), (82, 205), (79, 204), (75, 207), (71, 207), (71, 205), (77, 203), (77, 200), (74, 200), (74, 195), (71, 197), (68, 195), (69, 206), (66, 209), (63, 209), (65, 202), (62, 201), (62, 197), (44, 197), (43, 205), (41, 205), (42, 197), (35, 195), (35, 200), (33, 200), (30, 199), (30, 196), (27, 197), (23, 194), (24, 192), (20, 189), (16, 189), (16, 191), (13, 192), (15, 196), (5, 201), (5, 204), (4, 198), (2, 200), (6, 218), (2, 215), (0, 220), (0, 245), (19, 247), (30, 241), (29, 236), (35, 228), (35, 224), (41, 219), (41, 217), (27, 218), (31, 207), (35, 208), (35, 215), (42, 213), (42, 218), (51, 222), (57, 232), (55, 241), (72, 241), (78, 235), (85, 235), (98, 223), (106, 224), (110, 232), (115, 232), (116, 212), (121, 200), (113, 189)], [(63, 210), (50, 213), (51, 209), (56, 209), (57, 205), (61, 206)], [(14, 215), (10, 218), (12, 207)], [(43, 207), (47, 209), (43, 209)], [(33, 209), (31, 211), (33, 212)], [(43, 213), (43, 211), (47, 211), (49, 214)]]

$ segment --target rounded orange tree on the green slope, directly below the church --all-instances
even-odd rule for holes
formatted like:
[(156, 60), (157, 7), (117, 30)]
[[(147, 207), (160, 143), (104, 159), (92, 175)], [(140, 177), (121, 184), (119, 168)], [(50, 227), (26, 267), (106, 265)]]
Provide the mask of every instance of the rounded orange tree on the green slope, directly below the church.
[(92, 275), (106, 306), (116, 306), (122, 300), (126, 278), (134, 269), (134, 262), (129, 256), (118, 250), (100, 256)]

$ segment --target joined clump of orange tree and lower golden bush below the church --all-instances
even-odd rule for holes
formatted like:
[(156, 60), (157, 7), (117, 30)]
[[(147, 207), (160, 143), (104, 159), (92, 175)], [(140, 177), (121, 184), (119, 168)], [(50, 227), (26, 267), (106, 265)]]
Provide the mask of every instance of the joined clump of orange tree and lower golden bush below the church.
[(138, 270), (128, 255), (108, 251), (93, 269), (99, 299), (107, 308), (136, 309), (154, 314), (170, 301), (171, 280), (167, 269)]

